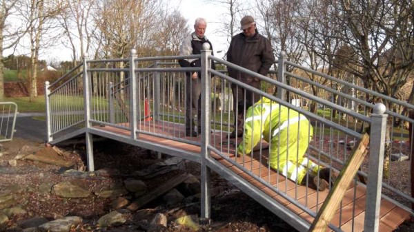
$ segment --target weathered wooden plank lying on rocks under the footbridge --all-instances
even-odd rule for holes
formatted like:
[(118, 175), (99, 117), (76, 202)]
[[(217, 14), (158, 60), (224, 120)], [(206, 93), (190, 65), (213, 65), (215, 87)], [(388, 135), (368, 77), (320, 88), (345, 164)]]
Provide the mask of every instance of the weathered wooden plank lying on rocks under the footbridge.
[(132, 202), (127, 209), (130, 211), (136, 211), (140, 207), (144, 206), (144, 204), (147, 204), (151, 200), (154, 200), (155, 198), (158, 198), (159, 196), (163, 195), (167, 191), (170, 191), (171, 189), (175, 188), (178, 184), (181, 184), (181, 182), (184, 182), (188, 178), (188, 175), (186, 173), (181, 174), (180, 176), (176, 176), (175, 178), (172, 178), (171, 180), (168, 180), (161, 186), (157, 187), (156, 189), (153, 189), (152, 191), (149, 191), (148, 193), (144, 194), (144, 196), (141, 196), (134, 202)]

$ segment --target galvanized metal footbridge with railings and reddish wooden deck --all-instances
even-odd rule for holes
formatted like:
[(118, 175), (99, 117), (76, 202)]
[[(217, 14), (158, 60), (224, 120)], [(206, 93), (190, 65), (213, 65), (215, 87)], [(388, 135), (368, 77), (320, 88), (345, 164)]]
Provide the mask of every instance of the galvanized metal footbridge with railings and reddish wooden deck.
[[(210, 173), (215, 171), (298, 231), (308, 231), (330, 190), (315, 191), (271, 169), (268, 153), (277, 145), (265, 140), (249, 154), (236, 154), (242, 138), (227, 138), (235, 129), (233, 85), (306, 116), (313, 127), (306, 157), (331, 168), (335, 175), (347, 167), (362, 132), (371, 128), (368, 153), (359, 170), (355, 167), (355, 178), (342, 187), (342, 200), (337, 209), (331, 209), (329, 231), (393, 231), (413, 214), (413, 198), (406, 187), (410, 179), (390, 178), (409, 170), (402, 167), (409, 162), (393, 161), (391, 154), (411, 151), (408, 143), (394, 141), (406, 140), (408, 129), (402, 125), (413, 120), (388, 110), (390, 106), (413, 109), (413, 105), (290, 63), (284, 54), (280, 54), (277, 71), (262, 76), (217, 59), (205, 49), (191, 56), (137, 57), (132, 50), (126, 59), (85, 57), (68, 74), (46, 83), (48, 143), (85, 134), (89, 171), (94, 171), (94, 136), (197, 162), (201, 218), (210, 218)], [(177, 59), (201, 59), (201, 67), (181, 68)], [(210, 68), (211, 62), (217, 70)], [(230, 78), (226, 67), (261, 79), (262, 89)], [(197, 118), (201, 131), (193, 137), (186, 136), (184, 129), (185, 89), (192, 85), (186, 83), (186, 72), (201, 72), (202, 110)], [(352, 93), (333, 89), (334, 85), (352, 89)], [(368, 103), (363, 100), (366, 96), (382, 99), (386, 107)]]

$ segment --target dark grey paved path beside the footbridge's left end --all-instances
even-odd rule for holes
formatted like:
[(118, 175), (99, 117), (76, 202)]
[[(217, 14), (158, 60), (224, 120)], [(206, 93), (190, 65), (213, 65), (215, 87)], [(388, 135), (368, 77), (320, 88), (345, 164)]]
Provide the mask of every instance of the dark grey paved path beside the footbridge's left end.
[(36, 120), (34, 116), (45, 116), (39, 113), (19, 113), (14, 125), (14, 137), (32, 140), (34, 142), (46, 142), (47, 129), (45, 120)]

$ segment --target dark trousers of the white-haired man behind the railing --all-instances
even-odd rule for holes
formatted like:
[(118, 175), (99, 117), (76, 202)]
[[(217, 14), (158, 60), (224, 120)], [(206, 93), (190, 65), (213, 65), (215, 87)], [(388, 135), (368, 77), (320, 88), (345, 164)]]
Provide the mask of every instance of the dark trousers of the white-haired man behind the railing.
[(201, 131), (201, 80), (186, 75), (186, 131), (194, 131), (197, 112), (197, 130)]

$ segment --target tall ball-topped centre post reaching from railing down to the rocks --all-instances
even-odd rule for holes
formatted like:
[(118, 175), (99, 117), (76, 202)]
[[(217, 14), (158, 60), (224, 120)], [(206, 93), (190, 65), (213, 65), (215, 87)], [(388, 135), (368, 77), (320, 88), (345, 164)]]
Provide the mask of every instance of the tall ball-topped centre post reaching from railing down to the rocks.
[(201, 50), (201, 218), (210, 218), (210, 168), (207, 158), (210, 157), (210, 111), (211, 111), (211, 67), (208, 56), (211, 55), (210, 44), (204, 43)]

